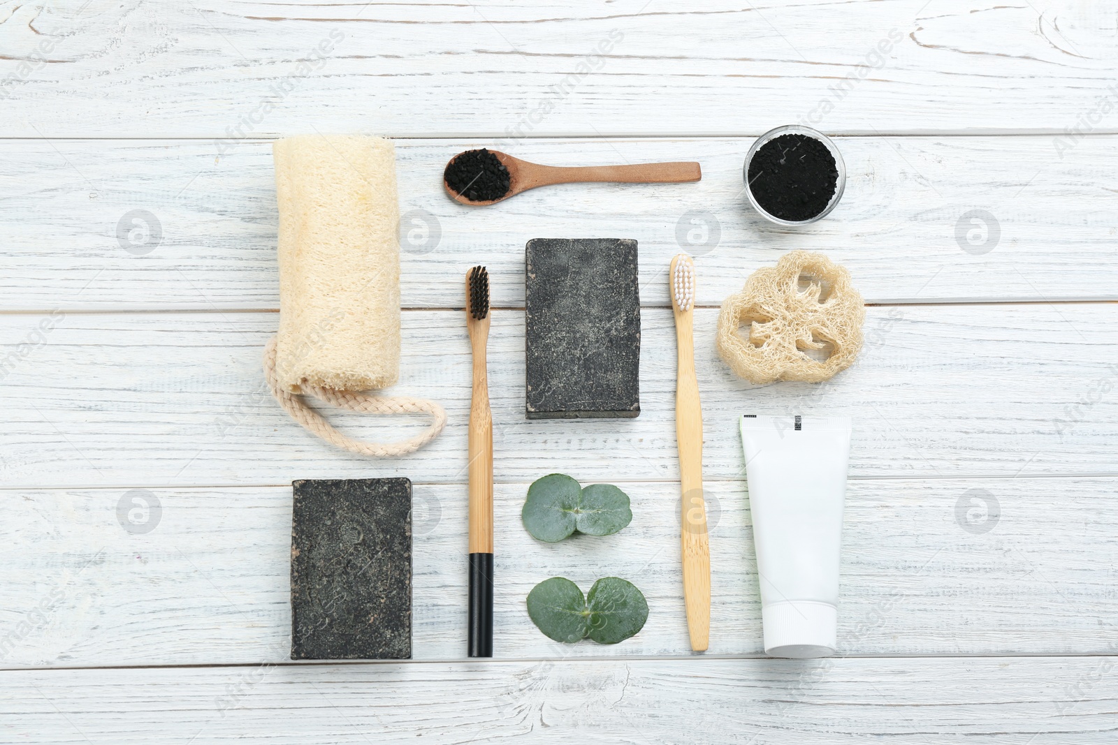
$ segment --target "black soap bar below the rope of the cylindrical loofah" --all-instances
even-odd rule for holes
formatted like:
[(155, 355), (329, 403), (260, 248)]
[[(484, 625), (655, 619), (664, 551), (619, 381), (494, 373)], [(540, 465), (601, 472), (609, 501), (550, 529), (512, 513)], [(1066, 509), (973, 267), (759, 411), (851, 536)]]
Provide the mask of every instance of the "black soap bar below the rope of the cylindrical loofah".
[(411, 481), (293, 481), (291, 658), (411, 657)]

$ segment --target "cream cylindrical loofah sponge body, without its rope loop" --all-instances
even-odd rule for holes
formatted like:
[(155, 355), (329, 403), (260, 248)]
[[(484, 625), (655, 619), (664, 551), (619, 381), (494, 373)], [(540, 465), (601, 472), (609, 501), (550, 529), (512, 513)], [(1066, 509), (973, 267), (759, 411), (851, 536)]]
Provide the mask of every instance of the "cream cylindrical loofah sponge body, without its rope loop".
[(280, 386), (388, 388), (400, 365), (399, 207), (390, 140), (273, 145), (280, 203)]

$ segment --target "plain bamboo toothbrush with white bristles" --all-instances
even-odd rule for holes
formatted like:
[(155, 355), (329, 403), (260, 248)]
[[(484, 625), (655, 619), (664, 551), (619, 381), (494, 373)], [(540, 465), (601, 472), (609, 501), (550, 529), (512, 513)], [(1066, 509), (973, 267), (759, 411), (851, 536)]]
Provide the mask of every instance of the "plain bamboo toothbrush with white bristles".
[(710, 640), (710, 546), (702, 496), (702, 405), (695, 378), (693, 316), (695, 265), (686, 254), (672, 259), (672, 311), (675, 316), (675, 440), (680, 449), (681, 547), (683, 601), (691, 649), (704, 651)]

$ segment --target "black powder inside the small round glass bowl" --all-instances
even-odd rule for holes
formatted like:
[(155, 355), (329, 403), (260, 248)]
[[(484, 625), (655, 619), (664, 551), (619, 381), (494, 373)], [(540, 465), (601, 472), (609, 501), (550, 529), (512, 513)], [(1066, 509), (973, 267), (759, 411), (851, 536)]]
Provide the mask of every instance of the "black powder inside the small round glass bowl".
[(749, 161), (749, 191), (773, 217), (811, 220), (827, 208), (839, 183), (834, 155), (805, 134), (769, 140)]

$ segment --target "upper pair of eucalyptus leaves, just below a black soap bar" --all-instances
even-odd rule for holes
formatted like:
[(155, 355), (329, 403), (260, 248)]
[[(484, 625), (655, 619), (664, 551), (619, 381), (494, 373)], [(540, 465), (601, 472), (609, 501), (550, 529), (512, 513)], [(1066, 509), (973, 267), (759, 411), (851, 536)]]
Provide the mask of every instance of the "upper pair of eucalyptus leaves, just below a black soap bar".
[(546, 543), (562, 541), (576, 531), (610, 535), (633, 520), (628, 495), (616, 486), (591, 484), (582, 489), (562, 474), (533, 481), (520, 516), (532, 537)]

